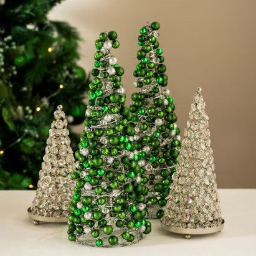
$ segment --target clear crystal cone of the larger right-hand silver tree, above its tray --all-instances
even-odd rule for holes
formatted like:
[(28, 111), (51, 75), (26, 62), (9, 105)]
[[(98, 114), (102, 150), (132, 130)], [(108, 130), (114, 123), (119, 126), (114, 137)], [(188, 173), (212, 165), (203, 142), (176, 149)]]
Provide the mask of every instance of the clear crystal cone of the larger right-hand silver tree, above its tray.
[(161, 219), (171, 227), (204, 229), (223, 222), (205, 105), (198, 88), (184, 131), (170, 198)]

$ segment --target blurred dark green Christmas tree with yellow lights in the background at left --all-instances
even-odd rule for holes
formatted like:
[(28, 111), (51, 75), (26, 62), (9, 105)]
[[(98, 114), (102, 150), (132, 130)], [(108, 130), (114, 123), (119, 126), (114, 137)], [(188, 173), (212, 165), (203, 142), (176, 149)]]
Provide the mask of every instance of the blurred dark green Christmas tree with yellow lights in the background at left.
[(0, 0), (0, 189), (34, 187), (57, 105), (72, 124), (85, 116), (80, 38), (69, 24), (47, 19), (59, 2)]

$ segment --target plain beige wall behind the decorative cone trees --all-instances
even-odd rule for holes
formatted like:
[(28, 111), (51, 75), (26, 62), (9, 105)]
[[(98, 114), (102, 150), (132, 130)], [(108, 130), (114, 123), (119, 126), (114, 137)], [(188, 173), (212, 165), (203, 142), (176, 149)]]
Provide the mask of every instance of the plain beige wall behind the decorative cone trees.
[(148, 20), (159, 21), (168, 88), (181, 131), (195, 89), (201, 86), (210, 117), (218, 186), (256, 187), (255, 0), (67, 0), (50, 17), (78, 28), (84, 38), (80, 63), (87, 70), (93, 67), (98, 34), (118, 32), (121, 44), (115, 52), (125, 67), (127, 104), (135, 90), (132, 72), (138, 31)]

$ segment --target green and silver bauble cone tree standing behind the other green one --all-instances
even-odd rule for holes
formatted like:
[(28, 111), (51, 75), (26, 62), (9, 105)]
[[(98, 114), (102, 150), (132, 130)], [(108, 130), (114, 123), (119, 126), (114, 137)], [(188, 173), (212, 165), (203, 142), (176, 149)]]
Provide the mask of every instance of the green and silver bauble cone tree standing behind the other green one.
[(178, 147), (180, 145), (177, 116), (174, 113), (173, 98), (169, 90), (163, 90), (168, 84), (166, 66), (163, 64), (163, 50), (159, 48), (159, 23), (148, 23), (142, 27), (137, 52), (140, 63), (133, 73), (138, 77), (135, 86), (140, 92), (133, 93), (130, 105), (135, 116), (138, 154), (143, 156), (139, 164), (143, 166), (148, 179), (149, 194), (147, 196), (148, 217), (151, 219), (163, 216), (169, 194), (171, 176), (178, 163)]

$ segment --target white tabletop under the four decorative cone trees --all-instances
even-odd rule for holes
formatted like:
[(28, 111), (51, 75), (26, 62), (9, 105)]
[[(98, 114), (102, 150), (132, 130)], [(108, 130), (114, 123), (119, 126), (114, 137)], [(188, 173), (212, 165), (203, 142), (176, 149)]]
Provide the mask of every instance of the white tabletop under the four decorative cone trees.
[(152, 232), (137, 244), (95, 248), (69, 242), (66, 224), (35, 226), (27, 217), (34, 191), (0, 191), (0, 255), (2, 256), (174, 256), (256, 255), (256, 189), (219, 189), (225, 219), (222, 232), (194, 236), (171, 234), (152, 220)]

